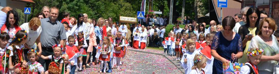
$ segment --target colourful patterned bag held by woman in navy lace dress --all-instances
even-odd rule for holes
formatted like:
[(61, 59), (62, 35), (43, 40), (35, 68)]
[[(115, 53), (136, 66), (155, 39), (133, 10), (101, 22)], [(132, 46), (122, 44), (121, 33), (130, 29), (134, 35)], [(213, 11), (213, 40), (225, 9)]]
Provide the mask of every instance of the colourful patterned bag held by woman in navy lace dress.
[[(232, 63), (233, 61), (236, 62)], [(236, 57), (235, 59), (233, 59), (233, 61), (229, 61), (229, 63), (223, 64), (223, 74), (240, 74), (240, 68), (244, 66), (244, 64), (239, 63)]]

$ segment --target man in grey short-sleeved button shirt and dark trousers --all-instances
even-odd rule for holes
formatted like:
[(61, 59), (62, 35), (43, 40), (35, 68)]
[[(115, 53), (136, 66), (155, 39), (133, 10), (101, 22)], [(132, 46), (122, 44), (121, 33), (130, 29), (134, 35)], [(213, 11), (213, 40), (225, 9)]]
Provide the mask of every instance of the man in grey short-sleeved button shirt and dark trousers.
[[(54, 44), (58, 44), (58, 42), (64, 46), (64, 40), (66, 37), (66, 32), (64, 29), (64, 25), (57, 20), (59, 14), (59, 9), (56, 7), (50, 8), (50, 17), (41, 19), (41, 44), (42, 44), (42, 55), (49, 56), (53, 55), (53, 48)], [(50, 62), (49, 60), (44, 60), (39, 58), (39, 63), (43, 66), (46, 65), (45, 71), (48, 70), (48, 65)]]

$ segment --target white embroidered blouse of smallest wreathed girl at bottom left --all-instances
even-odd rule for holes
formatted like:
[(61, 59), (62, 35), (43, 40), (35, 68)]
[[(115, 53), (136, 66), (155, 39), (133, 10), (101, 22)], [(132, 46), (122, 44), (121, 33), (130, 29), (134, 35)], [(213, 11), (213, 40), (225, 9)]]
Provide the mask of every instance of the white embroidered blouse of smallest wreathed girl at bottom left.
[(44, 71), (44, 67), (37, 61), (31, 62), (28, 61), (29, 71), (28, 74), (38, 74), (39, 72)]

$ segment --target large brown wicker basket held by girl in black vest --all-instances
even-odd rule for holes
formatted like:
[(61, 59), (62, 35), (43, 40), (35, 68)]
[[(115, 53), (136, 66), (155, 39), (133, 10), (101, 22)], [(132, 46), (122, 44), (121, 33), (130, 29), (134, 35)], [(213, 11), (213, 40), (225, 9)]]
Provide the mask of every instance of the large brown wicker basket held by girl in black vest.
[[(56, 64), (56, 67), (53, 66)], [(60, 69), (59, 69), (59, 63), (57, 62), (51, 62), (49, 67), (48, 67), (48, 72), (51, 74), (59, 74), (60, 73)]]

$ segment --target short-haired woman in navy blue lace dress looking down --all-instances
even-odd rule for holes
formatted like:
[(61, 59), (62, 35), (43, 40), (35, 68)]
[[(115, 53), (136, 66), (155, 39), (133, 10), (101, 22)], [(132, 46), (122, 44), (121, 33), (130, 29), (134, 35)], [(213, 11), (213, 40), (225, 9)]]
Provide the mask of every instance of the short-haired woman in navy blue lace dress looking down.
[(241, 58), (243, 55), (240, 35), (232, 31), (235, 19), (232, 16), (225, 17), (222, 26), (224, 30), (216, 33), (212, 41), (211, 55), (215, 58), (212, 74), (222, 74), (223, 63)]

